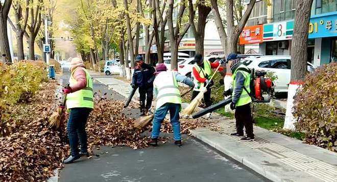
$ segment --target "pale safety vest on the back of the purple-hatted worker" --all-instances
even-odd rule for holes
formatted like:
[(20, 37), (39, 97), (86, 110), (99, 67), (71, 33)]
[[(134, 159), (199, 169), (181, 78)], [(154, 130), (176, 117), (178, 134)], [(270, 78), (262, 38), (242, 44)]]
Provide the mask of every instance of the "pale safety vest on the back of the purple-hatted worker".
[(174, 72), (160, 72), (156, 76), (153, 84), (158, 90), (156, 109), (160, 108), (165, 103), (178, 103), (181, 105), (179, 86)]

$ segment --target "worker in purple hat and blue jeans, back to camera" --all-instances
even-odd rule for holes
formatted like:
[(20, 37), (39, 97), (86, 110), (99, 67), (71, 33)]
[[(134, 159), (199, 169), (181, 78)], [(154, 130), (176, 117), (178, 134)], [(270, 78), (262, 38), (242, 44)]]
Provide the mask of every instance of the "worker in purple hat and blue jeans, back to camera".
[(157, 145), (160, 133), (160, 125), (167, 112), (170, 111), (171, 125), (175, 140), (174, 143), (178, 146), (181, 146), (182, 142), (179, 122), (181, 97), (178, 82), (184, 83), (190, 87), (194, 87), (194, 84), (187, 76), (179, 75), (179, 73), (175, 71), (166, 70), (166, 66), (162, 63), (156, 66), (156, 78), (153, 82), (153, 85), (155, 95), (157, 95), (157, 103), (153, 118), (151, 140), (148, 141), (148, 144), (153, 146)]

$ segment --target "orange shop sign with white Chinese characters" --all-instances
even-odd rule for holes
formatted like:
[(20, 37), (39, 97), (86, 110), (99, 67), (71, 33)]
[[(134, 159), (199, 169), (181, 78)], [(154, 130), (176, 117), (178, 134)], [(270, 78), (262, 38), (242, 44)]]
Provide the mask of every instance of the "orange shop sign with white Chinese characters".
[(263, 25), (245, 27), (239, 39), (239, 44), (256, 44), (263, 41)]

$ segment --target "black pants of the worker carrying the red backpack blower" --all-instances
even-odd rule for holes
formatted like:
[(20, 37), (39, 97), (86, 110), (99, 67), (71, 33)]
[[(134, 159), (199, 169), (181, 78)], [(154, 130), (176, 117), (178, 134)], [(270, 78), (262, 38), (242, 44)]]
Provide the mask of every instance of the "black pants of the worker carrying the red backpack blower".
[(250, 109), (250, 103), (244, 106), (238, 106), (235, 109), (236, 133), (244, 134), (244, 126), (246, 128), (247, 137), (254, 138), (253, 134), (253, 118)]

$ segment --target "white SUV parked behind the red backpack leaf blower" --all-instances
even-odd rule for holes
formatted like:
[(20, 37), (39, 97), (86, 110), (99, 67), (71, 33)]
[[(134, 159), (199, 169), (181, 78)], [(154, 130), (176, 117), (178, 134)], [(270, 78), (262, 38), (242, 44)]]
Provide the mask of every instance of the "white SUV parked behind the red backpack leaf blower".
[[(275, 92), (288, 92), (288, 85), (291, 75), (290, 56), (251, 56), (242, 60), (250, 69), (274, 72), (277, 80), (274, 81)], [(313, 71), (316, 66), (307, 63), (307, 70)]]

